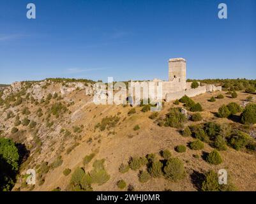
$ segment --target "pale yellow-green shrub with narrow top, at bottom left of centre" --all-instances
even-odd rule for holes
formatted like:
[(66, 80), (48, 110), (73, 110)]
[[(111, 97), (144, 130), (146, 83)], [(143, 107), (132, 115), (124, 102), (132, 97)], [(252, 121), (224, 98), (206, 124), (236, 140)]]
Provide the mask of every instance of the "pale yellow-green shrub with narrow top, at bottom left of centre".
[(90, 173), (93, 183), (102, 185), (110, 179), (110, 175), (104, 168), (104, 161), (105, 159), (94, 161), (93, 170)]

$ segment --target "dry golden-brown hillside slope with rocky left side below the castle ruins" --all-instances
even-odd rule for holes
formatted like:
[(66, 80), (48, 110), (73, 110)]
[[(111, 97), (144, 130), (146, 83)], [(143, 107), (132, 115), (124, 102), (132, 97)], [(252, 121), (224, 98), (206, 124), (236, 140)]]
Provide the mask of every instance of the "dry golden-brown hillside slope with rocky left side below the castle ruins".
[[(215, 113), (223, 104), (236, 102), (240, 105), (247, 96), (254, 94), (237, 92), (237, 98), (229, 98), (229, 95), (222, 92), (224, 99), (207, 101), (217, 94), (220, 92), (193, 98), (204, 108), (200, 112), (203, 119), (200, 122), (188, 120), (185, 126), (213, 121), (245, 129), (236, 120), (220, 119)], [(149, 119), (152, 112), (142, 112), (140, 106), (135, 107), (135, 113), (128, 114), (132, 109), (130, 106), (94, 105), (91, 84), (23, 82), (5, 89), (1, 97), (1, 136), (24, 143), (29, 150), (29, 156), (20, 168), (13, 191), (70, 190), (73, 172), (82, 167), (84, 171), (92, 174), (95, 169), (94, 162), (100, 159), (105, 159), (102, 170), (107, 172), (109, 179), (101, 185), (91, 184), (94, 191), (119, 191), (116, 184), (121, 179), (135, 191), (197, 191), (197, 177), (206, 171), (218, 172), (220, 169), (229, 172), (232, 183), (240, 191), (256, 191), (255, 153), (227, 147), (227, 150), (220, 151), (223, 162), (213, 165), (201, 157), (204, 152), (213, 150), (209, 143), (204, 143), (203, 150), (187, 147), (186, 152), (176, 152), (177, 145), (187, 146), (194, 139), (181, 136), (180, 129), (158, 126), (156, 119)], [(165, 103), (158, 117), (165, 117), (172, 107), (183, 107), (183, 104)], [(139, 128), (136, 129), (137, 125)], [(246, 131), (255, 133), (255, 126)], [(119, 172), (119, 166), (122, 163), (127, 164), (130, 157), (144, 157), (154, 153), (161, 159), (159, 152), (164, 149), (170, 150), (172, 157), (183, 162), (186, 171), (184, 179), (174, 182), (160, 177), (142, 183), (138, 179), (139, 170)], [(91, 161), (83, 162), (90, 155)], [(30, 168), (37, 172), (35, 186), (27, 186), (25, 182), (26, 171)], [(65, 169), (70, 169), (71, 173), (64, 175)], [(142, 166), (140, 170), (146, 170), (146, 166)]]

